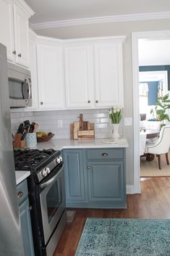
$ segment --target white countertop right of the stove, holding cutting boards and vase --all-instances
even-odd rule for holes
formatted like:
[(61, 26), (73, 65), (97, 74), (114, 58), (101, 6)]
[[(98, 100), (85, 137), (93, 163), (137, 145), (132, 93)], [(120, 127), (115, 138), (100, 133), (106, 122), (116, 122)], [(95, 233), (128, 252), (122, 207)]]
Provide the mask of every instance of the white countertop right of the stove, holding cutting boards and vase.
[(116, 143), (111, 143), (111, 139), (92, 139), (92, 140), (74, 140), (74, 139), (51, 139), (46, 142), (39, 142), (38, 149), (85, 149), (85, 148), (126, 148), (128, 143), (126, 139), (120, 139)]

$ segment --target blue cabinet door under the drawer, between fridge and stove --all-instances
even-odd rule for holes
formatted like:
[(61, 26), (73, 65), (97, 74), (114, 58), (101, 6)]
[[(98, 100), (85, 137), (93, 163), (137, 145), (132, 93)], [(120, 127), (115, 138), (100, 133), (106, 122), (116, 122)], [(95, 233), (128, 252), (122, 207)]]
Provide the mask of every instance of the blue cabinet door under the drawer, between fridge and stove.
[(25, 256), (34, 256), (33, 236), (30, 223), (30, 210), (28, 199), (22, 202), (22, 204), (19, 206), (19, 209)]

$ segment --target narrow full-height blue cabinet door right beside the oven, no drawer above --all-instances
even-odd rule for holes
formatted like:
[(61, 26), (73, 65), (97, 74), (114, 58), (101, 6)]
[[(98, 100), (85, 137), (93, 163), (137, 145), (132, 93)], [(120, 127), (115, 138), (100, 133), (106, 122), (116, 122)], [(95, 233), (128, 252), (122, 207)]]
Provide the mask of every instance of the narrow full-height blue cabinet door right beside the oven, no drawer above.
[(67, 207), (80, 206), (80, 203), (85, 201), (82, 149), (64, 149), (63, 157), (66, 205)]

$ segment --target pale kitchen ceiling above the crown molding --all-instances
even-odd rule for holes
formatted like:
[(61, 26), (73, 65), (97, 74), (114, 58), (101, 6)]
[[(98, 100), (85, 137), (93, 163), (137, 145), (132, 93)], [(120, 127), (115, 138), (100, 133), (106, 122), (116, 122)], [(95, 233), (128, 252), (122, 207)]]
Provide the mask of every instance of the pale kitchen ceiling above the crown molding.
[(169, 12), (169, 0), (25, 0), (34, 10), (30, 23), (89, 17)]

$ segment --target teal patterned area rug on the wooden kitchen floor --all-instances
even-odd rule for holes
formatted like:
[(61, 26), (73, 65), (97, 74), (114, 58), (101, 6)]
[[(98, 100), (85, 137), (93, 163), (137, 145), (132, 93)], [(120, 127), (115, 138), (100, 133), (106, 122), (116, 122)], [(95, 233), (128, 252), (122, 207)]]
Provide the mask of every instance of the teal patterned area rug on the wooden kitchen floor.
[(75, 256), (170, 256), (170, 220), (88, 218)]

